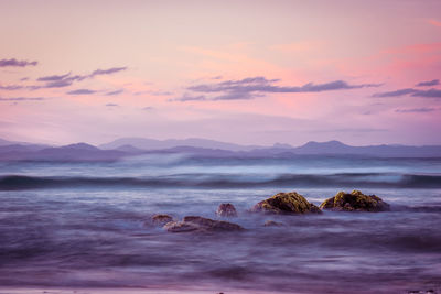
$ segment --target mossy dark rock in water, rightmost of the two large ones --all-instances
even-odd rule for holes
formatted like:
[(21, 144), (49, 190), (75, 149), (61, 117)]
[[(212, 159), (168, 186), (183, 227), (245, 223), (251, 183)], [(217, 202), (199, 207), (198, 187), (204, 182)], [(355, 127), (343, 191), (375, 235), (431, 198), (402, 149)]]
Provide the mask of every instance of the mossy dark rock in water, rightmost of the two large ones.
[(334, 197), (324, 200), (320, 208), (336, 211), (387, 211), (390, 206), (380, 197), (375, 195), (364, 195), (354, 189), (351, 194), (338, 192)]

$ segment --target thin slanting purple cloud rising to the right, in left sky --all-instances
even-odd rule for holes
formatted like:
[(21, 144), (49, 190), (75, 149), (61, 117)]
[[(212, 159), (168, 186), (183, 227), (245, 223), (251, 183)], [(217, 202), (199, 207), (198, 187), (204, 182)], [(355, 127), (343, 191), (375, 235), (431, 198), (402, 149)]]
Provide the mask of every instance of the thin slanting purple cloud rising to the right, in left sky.
[(111, 75), (121, 70), (126, 70), (127, 67), (111, 67), (107, 69), (96, 69), (88, 75), (72, 75), (72, 73), (67, 73), (64, 75), (52, 75), (39, 77), (37, 81), (46, 83), (42, 88), (62, 88), (71, 86), (74, 81), (82, 81), (86, 78), (94, 78), (99, 75)]

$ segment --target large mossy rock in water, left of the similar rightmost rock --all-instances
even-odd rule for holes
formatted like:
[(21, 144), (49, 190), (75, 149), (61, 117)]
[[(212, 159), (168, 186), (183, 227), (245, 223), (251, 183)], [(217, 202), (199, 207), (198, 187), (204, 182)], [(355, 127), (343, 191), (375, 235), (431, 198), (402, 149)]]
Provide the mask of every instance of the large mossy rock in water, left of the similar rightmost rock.
[(251, 213), (267, 214), (321, 214), (319, 207), (309, 203), (302, 195), (290, 192), (279, 193), (275, 196), (256, 204)]

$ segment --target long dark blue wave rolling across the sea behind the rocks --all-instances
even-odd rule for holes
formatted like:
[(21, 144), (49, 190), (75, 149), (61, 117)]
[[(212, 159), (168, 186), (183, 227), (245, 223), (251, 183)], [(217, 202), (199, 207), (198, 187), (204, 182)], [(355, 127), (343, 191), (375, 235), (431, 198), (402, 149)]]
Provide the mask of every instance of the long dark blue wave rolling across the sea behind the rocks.
[(330, 175), (282, 174), (276, 176), (237, 174), (176, 174), (159, 177), (63, 177), (6, 175), (0, 190), (73, 187), (397, 187), (441, 188), (441, 175), (343, 173)]

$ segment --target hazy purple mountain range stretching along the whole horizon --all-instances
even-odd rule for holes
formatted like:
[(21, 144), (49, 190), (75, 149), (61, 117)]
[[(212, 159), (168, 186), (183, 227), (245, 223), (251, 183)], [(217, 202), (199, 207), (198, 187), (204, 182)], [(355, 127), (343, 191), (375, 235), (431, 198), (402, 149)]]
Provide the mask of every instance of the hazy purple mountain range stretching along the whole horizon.
[(87, 143), (49, 146), (0, 139), (0, 161), (114, 161), (127, 156), (158, 153), (183, 153), (201, 157), (290, 157), (299, 155), (441, 157), (441, 145), (351, 146), (338, 141), (312, 141), (294, 148), (280, 143), (272, 146), (239, 145), (196, 138), (162, 141), (122, 138), (99, 146)]

